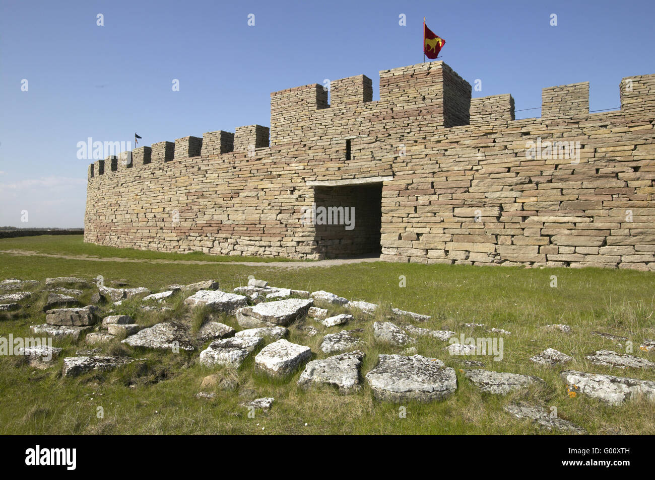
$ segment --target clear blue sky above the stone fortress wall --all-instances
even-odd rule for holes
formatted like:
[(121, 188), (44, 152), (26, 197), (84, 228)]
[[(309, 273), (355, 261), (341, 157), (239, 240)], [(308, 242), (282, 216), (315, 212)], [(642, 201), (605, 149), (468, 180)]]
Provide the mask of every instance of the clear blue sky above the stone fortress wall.
[(517, 110), (583, 81), (591, 110), (618, 107), (622, 77), (655, 73), (652, 0), (0, 0), (0, 226), (83, 226), (88, 137), (269, 126), (271, 92), (360, 73), (376, 99), (379, 70), (423, 60), (423, 16), (440, 60), (481, 80), (473, 96), (510, 93)]

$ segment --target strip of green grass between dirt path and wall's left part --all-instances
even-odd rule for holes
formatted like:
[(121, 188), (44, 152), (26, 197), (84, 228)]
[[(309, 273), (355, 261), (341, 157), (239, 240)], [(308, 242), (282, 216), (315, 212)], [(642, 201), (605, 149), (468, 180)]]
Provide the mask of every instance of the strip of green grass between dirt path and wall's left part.
[(0, 239), (0, 250), (29, 250), (45, 254), (97, 256), (103, 258), (142, 258), (146, 260), (202, 260), (204, 262), (290, 262), (288, 258), (208, 255), (202, 252), (172, 253), (151, 250), (117, 249), (84, 243), (84, 235), (37, 235)]

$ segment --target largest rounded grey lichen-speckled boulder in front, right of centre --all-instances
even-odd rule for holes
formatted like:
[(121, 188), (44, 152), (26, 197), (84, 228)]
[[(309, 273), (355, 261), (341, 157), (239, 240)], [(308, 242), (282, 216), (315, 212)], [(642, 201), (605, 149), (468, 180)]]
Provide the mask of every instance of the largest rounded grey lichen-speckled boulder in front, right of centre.
[(457, 390), (455, 370), (438, 358), (421, 355), (379, 355), (377, 366), (366, 374), (373, 396), (384, 402), (431, 402)]

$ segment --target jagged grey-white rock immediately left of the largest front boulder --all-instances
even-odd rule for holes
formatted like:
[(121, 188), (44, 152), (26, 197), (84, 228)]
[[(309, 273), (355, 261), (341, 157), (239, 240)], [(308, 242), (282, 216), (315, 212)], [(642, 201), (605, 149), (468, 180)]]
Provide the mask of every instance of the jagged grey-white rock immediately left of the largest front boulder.
[(333, 385), (342, 394), (357, 392), (362, 388), (360, 367), (363, 358), (364, 352), (354, 351), (312, 360), (301, 373), (298, 385), (305, 389), (312, 385)]

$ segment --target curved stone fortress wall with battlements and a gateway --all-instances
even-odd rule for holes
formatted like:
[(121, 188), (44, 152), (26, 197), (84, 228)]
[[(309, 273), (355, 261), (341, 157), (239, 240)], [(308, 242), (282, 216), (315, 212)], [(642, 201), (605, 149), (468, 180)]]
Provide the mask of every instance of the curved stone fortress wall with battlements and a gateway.
[[(88, 167), (84, 241), (210, 254), (655, 270), (655, 75), (618, 111), (588, 82), (471, 98), (442, 61), (271, 94), (271, 129), (136, 148)], [(579, 146), (579, 148), (578, 148)], [(131, 162), (128, 160), (131, 156)], [(355, 207), (352, 230), (301, 221)]]

